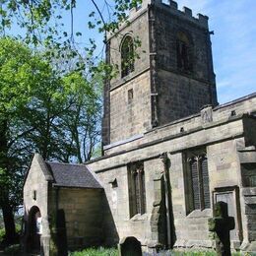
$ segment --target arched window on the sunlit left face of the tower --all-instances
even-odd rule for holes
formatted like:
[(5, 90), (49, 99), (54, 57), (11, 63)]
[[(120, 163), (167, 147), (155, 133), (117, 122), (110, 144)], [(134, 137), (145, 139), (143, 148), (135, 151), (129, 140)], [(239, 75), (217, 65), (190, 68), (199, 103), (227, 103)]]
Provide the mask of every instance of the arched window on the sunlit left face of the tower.
[(121, 76), (122, 78), (134, 71), (133, 38), (127, 35), (121, 45)]

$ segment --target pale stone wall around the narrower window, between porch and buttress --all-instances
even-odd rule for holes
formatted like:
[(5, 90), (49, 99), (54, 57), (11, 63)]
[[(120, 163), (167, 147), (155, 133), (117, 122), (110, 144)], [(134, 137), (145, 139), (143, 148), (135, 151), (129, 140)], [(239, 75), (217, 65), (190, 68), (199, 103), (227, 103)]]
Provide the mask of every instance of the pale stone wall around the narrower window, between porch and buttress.
[[(128, 169), (127, 166), (117, 167), (97, 173), (97, 177), (104, 187), (110, 212), (106, 215), (104, 211), (104, 237), (106, 244), (116, 244), (124, 236), (137, 237), (143, 246), (149, 242), (158, 242), (158, 232), (153, 233), (151, 226), (151, 217), (153, 203), (160, 200), (159, 194), (156, 194), (154, 187), (155, 179), (160, 176), (162, 171), (162, 162), (150, 160), (144, 162), (145, 185), (146, 185), (146, 214), (130, 217), (129, 211), (129, 190), (128, 190)], [(117, 187), (112, 187), (111, 180), (117, 180)], [(111, 218), (110, 216), (111, 215)], [(117, 234), (118, 233), (118, 234)]]

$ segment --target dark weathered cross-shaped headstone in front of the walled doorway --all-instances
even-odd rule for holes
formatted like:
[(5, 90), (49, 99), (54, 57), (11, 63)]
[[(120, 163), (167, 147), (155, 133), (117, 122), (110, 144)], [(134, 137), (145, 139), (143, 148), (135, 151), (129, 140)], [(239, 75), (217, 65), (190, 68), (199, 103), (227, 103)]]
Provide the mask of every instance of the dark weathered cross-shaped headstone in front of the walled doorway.
[(208, 220), (209, 231), (215, 232), (217, 255), (229, 256), (230, 230), (234, 228), (234, 218), (227, 214), (227, 204), (218, 202), (214, 208), (214, 218)]

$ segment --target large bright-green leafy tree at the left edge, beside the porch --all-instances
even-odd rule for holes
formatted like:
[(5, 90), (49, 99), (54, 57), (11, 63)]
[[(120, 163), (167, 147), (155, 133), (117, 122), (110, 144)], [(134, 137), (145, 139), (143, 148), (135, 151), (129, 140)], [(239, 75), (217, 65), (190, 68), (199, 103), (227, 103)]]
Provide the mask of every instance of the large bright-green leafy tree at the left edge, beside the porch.
[(23, 138), (33, 129), (21, 129), (23, 107), (49, 74), (49, 65), (20, 42), (0, 40), (0, 207), (10, 243), (16, 238), (13, 210), (21, 203), (16, 188), (21, 189), (24, 171), (21, 152), (27, 143)]

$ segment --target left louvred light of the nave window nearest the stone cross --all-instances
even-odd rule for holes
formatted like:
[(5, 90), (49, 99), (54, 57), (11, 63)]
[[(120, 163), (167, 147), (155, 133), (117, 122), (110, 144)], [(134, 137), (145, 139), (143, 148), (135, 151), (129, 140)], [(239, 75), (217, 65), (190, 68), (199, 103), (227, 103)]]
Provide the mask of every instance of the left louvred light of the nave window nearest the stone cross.
[(200, 209), (200, 186), (199, 186), (199, 175), (198, 175), (198, 162), (192, 160), (190, 162), (190, 170), (192, 177), (192, 188), (193, 188), (193, 203), (194, 209)]

